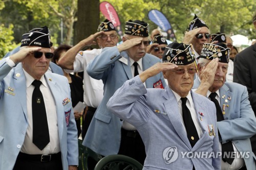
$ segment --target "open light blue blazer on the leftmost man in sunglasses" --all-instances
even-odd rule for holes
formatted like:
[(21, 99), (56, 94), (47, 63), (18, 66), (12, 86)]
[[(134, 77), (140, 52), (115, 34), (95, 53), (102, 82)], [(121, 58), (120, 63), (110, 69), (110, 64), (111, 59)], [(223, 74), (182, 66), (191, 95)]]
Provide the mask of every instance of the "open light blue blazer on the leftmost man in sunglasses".
[[(16, 76), (19, 74), (19, 76)], [(63, 105), (66, 98), (71, 99), (67, 78), (46, 72), (45, 79), (52, 92), (58, 118), (58, 134), (62, 167), (78, 165), (77, 128), (72, 103)], [(12, 169), (23, 145), (28, 128), (26, 77), (19, 63), (11, 68), (6, 59), (0, 60), (0, 169)], [(71, 111), (66, 125), (65, 112)]]

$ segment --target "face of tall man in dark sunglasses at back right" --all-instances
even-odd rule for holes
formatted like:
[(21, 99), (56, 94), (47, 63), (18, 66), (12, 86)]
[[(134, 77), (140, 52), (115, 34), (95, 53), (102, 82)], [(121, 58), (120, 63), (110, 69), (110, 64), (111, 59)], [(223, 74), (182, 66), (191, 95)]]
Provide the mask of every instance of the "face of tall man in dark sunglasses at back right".
[(201, 27), (201, 30), (198, 34), (203, 34), (204, 36), (202, 38), (197, 38), (196, 36), (193, 37), (191, 43), (193, 44), (194, 50), (200, 55), (203, 44), (210, 43), (210, 38), (205, 37), (205, 34), (210, 34), (210, 31), (207, 27)]

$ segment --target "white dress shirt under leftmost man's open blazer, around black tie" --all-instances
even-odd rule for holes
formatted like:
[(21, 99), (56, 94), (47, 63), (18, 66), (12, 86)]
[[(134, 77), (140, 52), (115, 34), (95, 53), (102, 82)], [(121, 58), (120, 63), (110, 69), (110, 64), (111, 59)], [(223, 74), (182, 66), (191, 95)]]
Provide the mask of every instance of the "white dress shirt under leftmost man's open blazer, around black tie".
[[(23, 69), (24, 70), (24, 69)], [(42, 76), (40, 81), (42, 82), (40, 86), (40, 91), (44, 97), (46, 114), (47, 114), (47, 122), (49, 128), (50, 142), (47, 146), (41, 151), (36, 147), (33, 143), (33, 118), (32, 118), (32, 93), (34, 90), (34, 86), (32, 82), (34, 78), (31, 77), (25, 70), (26, 77), (26, 86), (27, 86), (27, 115), (28, 115), (28, 129), (25, 135), (25, 140), (20, 150), (26, 154), (55, 154), (60, 152), (59, 146), (59, 135), (58, 135), (58, 123), (57, 123), (57, 112), (55, 101), (53, 99), (50, 88), (45, 80), (45, 77)]]

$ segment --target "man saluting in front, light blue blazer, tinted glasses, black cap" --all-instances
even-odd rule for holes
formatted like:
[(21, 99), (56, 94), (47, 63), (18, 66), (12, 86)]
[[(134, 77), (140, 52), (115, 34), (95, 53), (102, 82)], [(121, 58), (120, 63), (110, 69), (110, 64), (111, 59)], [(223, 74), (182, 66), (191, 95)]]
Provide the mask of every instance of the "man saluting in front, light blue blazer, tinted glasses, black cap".
[[(220, 169), (216, 108), (191, 91), (197, 72), (191, 45), (173, 42), (157, 63), (125, 82), (109, 100), (112, 113), (134, 125), (145, 144), (143, 169)], [(163, 71), (165, 89), (143, 83)], [(204, 152), (201, 158), (182, 153)]]

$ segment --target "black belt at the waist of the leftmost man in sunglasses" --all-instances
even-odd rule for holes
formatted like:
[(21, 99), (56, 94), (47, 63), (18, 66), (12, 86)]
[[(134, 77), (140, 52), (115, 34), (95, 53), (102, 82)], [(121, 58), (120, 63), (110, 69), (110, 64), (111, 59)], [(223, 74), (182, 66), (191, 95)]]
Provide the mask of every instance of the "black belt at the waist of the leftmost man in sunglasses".
[(49, 155), (29, 155), (22, 152), (19, 152), (17, 159), (23, 160), (33, 160), (39, 162), (50, 162), (53, 160), (61, 160), (61, 153), (49, 154)]

